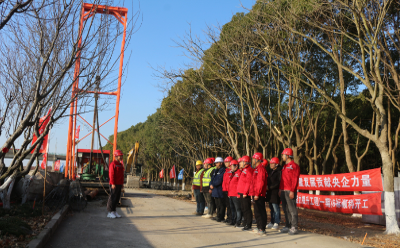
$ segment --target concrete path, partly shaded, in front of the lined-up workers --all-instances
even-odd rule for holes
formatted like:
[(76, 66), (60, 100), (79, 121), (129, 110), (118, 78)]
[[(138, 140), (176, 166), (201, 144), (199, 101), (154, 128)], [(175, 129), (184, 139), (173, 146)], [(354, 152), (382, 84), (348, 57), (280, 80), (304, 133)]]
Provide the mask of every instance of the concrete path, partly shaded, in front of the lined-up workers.
[(260, 237), (238, 228), (191, 215), (195, 205), (127, 190), (120, 219), (106, 218), (101, 202), (68, 216), (46, 247), (361, 247), (341, 239), (301, 232), (290, 236), (268, 231)]

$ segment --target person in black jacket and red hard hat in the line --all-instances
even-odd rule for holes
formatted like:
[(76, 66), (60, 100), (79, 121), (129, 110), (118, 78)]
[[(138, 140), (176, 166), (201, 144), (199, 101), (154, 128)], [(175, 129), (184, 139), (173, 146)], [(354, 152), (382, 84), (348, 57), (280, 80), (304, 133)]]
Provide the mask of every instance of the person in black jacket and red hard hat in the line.
[(277, 230), (281, 221), (281, 211), (279, 209), (279, 184), (281, 182), (282, 167), (279, 165), (279, 158), (271, 158), (269, 161), (271, 172), (267, 179), (268, 191), (266, 196), (266, 202), (269, 202), (269, 208), (271, 209), (271, 222), (267, 225), (267, 228)]

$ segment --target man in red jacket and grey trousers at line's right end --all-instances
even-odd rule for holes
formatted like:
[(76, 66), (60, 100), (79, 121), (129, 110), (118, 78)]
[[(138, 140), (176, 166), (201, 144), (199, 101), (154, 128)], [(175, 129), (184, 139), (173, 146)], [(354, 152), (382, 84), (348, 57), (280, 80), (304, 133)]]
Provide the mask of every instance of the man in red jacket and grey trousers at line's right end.
[(300, 167), (293, 161), (293, 150), (286, 148), (282, 152), (282, 160), (285, 166), (282, 168), (282, 178), (279, 184), (279, 195), (281, 196), (282, 208), (285, 212), (285, 227), (281, 233), (297, 234), (298, 214), (296, 208), (297, 186), (300, 177)]

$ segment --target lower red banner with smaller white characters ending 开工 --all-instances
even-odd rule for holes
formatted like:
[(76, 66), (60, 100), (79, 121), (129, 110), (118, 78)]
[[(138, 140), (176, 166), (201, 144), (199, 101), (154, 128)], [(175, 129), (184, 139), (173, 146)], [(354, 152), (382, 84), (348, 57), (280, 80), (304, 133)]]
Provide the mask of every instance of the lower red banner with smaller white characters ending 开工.
[(381, 194), (310, 195), (297, 193), (297, 207), (335, 213), (382, 215)]

